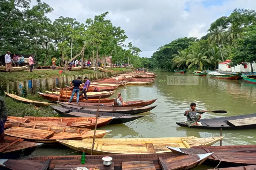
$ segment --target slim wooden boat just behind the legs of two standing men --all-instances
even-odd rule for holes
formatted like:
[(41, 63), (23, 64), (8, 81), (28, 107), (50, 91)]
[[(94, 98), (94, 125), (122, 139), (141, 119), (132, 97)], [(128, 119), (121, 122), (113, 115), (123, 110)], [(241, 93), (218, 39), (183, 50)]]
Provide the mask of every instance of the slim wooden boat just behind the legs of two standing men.
[[(52, 94), (55, 96), (60, 97), (61, 99), (70, 99), (71, 95), (72, 95), (72, 91), (68, 91), (68, 90), (61, 90), (60, 92), (48, 92), (46, 91), (47, 94)], [(110, 92), (88, 92), (87, 93), (87, 97), (88, 99), (99, 99), (101, 97), (101, 99), (106, 99), (110, 96), (112, 96), (115, 93), (115, 91), (110, 91)], [(80, 100), (83, 100), (84, 95), (80, 95), (79, 98)], [(76, 100), (76, 94), (73, 96), (73, 99)]]

